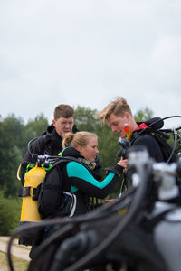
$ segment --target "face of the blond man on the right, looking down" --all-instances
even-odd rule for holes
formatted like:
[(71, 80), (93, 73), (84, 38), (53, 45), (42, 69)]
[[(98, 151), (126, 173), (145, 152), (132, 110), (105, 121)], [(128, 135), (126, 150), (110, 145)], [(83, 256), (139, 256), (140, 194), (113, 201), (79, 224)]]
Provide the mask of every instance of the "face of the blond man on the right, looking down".
[(113, 113), (107, 118), (107, 123), (110, 126), (113, 133), (117, 133), (119, 137), (124, 138), (127, 133), (124, 131), (124, 124), (128, 122), (128, 118), (115, 116)]

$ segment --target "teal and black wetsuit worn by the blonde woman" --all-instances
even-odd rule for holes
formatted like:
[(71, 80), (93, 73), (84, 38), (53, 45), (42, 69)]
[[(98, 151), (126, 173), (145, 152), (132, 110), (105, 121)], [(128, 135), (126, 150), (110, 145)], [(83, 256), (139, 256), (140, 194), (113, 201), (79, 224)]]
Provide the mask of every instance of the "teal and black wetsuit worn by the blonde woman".
[[(65, 148), (62, 156), (82, 158), (79, 152), (72, 147)], [(109, 169), (106, 178), (102, 182), (98, 182), (94, 171), (90, 170), (86, 164), (74, 161), (66, 164), (63, 168), (63, 182), (66, 182), (70, 192), (77, 197), (75, 215), (90, 211), (90, 197), (100, 199), (107, 197), (112, 192), (122, 171), (123, 167), (116, 164), (114, 168)]]

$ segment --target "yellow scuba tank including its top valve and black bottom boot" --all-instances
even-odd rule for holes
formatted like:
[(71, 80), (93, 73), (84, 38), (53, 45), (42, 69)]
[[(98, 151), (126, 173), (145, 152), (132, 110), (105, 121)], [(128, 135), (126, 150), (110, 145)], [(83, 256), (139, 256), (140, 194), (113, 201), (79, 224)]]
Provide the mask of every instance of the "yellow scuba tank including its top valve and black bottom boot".
[[(20, 227), (24, 223), (37, 223), (41, 220), (38, 211), (38, 196), (41, 190), (44, 177), (60, 156), (32, 154), (35, 164), (28, 164), (26, 167), (24, 187), (18, 192), (18, 196), (23, 198)], [(21, 165), (20, 165), (21, 166)], [(20, 167), (17, 172), (19, 177)], [(19, 245), (38, 246), (43, 241), (43, 230), (33, 230), (19, 238)]]

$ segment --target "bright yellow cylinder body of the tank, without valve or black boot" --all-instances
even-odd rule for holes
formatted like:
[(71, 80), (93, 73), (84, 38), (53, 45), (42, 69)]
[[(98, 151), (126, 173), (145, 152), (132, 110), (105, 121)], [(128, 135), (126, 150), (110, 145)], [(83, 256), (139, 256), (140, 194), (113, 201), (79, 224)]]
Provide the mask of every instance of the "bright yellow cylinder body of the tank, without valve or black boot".
[(24, 188), (23, 188), (23, 202), (21, 219), (22, 222), (36, 222), (41, 220), (37, 208), (37, 200), (33, 200), (34, 189), (37, 188), (44, 180), (46, 171), (43, 167), (35, 165), (25, 175)]

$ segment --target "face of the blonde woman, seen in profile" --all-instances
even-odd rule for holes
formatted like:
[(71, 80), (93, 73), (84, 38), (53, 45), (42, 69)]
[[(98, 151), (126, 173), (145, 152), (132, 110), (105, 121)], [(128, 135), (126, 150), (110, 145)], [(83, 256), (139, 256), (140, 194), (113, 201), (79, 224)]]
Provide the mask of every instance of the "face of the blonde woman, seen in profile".
[(84, 147), (79, 145), (78, 151), (86, 160), (93, 163), (96, 159), (96, 155), (99, 154), (98, 139), (95, 136), (90, 136), (88, 145)]

